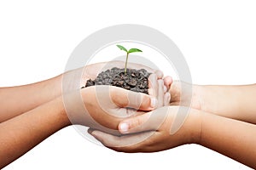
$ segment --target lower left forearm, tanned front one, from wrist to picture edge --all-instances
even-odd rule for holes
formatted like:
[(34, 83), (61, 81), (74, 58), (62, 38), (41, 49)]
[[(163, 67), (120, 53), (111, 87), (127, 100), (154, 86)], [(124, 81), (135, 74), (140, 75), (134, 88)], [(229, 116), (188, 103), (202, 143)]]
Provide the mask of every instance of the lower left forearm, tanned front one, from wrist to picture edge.
[(61, 99), (0, 123), (0, 168), (69, 124)]

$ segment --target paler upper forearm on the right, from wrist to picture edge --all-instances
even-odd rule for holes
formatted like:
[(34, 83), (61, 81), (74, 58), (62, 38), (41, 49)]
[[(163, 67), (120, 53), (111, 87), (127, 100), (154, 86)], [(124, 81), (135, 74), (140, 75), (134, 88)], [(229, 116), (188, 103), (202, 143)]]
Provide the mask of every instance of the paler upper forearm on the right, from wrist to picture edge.
[(256, 123), (256, 84), (245, 86), (195, 86), (201, 111)]

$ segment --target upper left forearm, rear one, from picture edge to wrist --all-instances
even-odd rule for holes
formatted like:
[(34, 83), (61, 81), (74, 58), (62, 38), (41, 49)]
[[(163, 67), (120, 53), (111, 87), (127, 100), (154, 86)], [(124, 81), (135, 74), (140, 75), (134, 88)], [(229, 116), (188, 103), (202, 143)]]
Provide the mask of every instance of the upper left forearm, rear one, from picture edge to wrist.
[(0, 88), (0, 122), (61, 95), (61, 76), (24, 86)]

